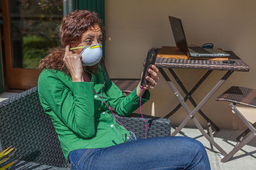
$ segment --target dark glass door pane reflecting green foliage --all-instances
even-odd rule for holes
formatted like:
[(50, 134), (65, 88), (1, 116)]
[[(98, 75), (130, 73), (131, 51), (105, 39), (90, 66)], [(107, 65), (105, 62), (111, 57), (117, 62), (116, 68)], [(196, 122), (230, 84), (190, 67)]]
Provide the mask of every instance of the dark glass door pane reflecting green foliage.
[(61, 0), (11, 0), (13, 67), (36, 69), (49, 48), (60, 45)]

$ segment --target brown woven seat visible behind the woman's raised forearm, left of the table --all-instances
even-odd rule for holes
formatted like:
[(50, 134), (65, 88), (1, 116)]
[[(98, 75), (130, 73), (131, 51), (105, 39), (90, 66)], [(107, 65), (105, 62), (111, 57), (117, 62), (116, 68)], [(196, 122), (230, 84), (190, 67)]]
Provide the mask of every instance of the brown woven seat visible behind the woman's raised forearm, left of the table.
[(111, 80), (122, 92), (126, 93), (131, 93), (140, 83), (140, 79), (111, 78)]

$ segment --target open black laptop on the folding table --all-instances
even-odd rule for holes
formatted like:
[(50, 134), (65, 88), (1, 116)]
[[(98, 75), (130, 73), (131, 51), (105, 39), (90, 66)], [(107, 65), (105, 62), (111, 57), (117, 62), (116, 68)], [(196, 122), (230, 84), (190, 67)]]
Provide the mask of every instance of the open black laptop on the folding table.
[(201, 46), (188, 46), (184, 29), (179, 18), (169, 16), (175, 43), (180, 51), (191, 57), (227, 57), (230, 54), (217, 48), (202, 48)]

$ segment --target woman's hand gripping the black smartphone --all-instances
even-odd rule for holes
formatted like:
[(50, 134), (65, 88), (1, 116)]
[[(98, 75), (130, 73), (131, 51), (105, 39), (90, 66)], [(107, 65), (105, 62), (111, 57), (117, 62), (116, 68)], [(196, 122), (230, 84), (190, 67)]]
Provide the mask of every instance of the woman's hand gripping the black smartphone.
[[(148, 73), (150, 74), (150, 76), (146, 76), (146, 80), (148, 80), (148, 84), (145, 85), (145, 87), (143, 88), (143, 90), (150, 90), (150, 89), (154, 89), (154, 87), (157, 85), (158, 83), (158, 72), (159, 72), (159, 69), (155, 66), (155, 65), (151, 65), (150, 68), (148, 69)], [(142, 73), (143, 74), (143, 73)], [(142, 77), (142, 74), (141, 74), (141, 77)], [(141, 85), (139, 83), (138, 87), (137, 87), (137, 95), (140, 96), (140, 93), (141, 93)]]

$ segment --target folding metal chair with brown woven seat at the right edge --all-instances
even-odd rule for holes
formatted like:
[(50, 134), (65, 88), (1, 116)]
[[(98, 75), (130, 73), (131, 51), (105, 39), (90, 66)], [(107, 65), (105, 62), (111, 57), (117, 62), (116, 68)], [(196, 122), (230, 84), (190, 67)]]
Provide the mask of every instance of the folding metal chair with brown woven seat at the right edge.
[[(234, 148), (227, 154), (221, 162), (227, 162), (230, 158), (234, 156), (234, 154), (243, 148), (244, 145), (252, 141), (256, 136), (255, 125), (253, 122), (249, 122), (249, 120), (244, 117), (244, 114), (241, 113), (236, 107), (236, 104), (243, 104), (245, 106), (250, 106), (256, 108), (256, 90), (249, 89), (246, 87), (230, 87), (226, 92), (221, 94), (221, 96), (216, 98), (217, 101), (230, 101), (230, 108), (236, 113), (236, 115), (241, 118), (241, 120), (246, 124), (248, 129), (244, 131), (241, 135), (237, 137), (237, 144)], [(256, 115), (255, 115), (256, 117)]]

